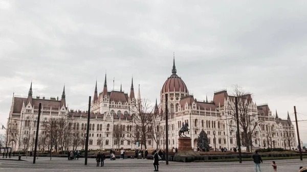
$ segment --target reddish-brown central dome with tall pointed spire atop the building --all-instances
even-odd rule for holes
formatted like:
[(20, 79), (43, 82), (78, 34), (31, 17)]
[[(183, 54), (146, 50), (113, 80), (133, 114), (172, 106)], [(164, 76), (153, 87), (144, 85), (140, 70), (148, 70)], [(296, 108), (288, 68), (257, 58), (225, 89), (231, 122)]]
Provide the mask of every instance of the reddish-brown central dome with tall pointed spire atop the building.
[(165, 81), (163, 84), (161, 92), (185, 92), (188, 93), (187, 86), (183, 82), (183, 80), (178, 77), (176, 66), (175, 66), (175, 59), (173, 59), (173, 67), (172, 67), (172, 75)]

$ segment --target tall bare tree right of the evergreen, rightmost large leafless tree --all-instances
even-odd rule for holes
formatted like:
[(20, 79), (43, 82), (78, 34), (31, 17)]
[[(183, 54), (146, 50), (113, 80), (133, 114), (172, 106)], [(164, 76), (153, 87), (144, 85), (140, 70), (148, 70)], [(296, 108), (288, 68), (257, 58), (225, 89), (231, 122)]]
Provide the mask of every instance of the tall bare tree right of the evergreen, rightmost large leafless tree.
[[(237, 97), (238, 105), (238, 121), (240, 135), (242, 136), (242, 145), (247, 147), (247, 152), (250, 151), (249, 145), (253, 146), (252, 138), (256, 137), (256, 129), (261, 123), (255, 114), (252, 114), (251, 106), (253, 104), (252, 94), (245, 92), (241, 87), (235, 85), (233, 89), (234, 97)], [(236, 108), (234, 97), (230, 97), (228, 108), (230, 108), (230, 116), (236, 121)]]

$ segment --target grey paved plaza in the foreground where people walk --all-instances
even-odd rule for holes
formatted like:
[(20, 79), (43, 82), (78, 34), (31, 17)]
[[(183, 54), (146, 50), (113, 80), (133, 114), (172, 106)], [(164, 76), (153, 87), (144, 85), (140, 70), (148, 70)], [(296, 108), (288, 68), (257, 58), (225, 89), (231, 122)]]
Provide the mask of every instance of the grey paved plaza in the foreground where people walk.
[[(23, 157), (25, 159), (25, 157)], [(152, 160), (143, 159), (117, 159), (111, 161), (106, 159), (104, 167), (96, 167), (95, 159), (88, 159), (87, 165), (84, 165), (84, 158), (79, 160), (68, 161), (67, 158), (39, 157), (36, 164), (33, 164), (33, 157), (26, 159), (27, 161), (9, 161), (0, 160), (0, 171), (153, 171)], [(261, 164), (262, 171), (273, 171), (272, 161), (264, 161)], [(307, 161), (295, 160), (276, 160), (278, 172), (298, 171), (299, 166), (307, 166)], [(159, 171), (228, 171), (228, 172), (250, 172), (255, 171), (253, 162), (204, 162), (204, 163), (183, 163), (183, 162), (165, 162), (160, 163)]]

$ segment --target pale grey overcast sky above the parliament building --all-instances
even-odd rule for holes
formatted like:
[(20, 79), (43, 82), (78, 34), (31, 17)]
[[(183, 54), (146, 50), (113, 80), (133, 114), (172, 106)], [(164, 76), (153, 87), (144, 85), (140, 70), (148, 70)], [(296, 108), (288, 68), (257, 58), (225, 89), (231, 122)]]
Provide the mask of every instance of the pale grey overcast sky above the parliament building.
[[(85, 110), (95, 81), (154, 102), (177, 73), (198, 100), (234, 84), (281, 118), (307, 119), (305, 1), (0, 0), (0, 121), (12, 95), (61, 96)], [(307, 121), (299, 122), (307, 142)]]

